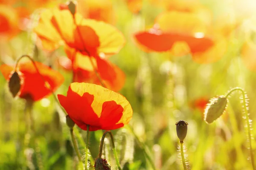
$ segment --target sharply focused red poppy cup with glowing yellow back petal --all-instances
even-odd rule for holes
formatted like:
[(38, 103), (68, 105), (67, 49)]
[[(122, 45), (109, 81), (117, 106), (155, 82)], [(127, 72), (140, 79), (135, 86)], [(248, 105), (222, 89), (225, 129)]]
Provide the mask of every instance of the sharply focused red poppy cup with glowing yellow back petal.
[(127, 125), (133, 111), (124, 96), (99, 85), (71, 83), (67, 96), (58, 99), (70, 118), (81, 129), (113, 130)]

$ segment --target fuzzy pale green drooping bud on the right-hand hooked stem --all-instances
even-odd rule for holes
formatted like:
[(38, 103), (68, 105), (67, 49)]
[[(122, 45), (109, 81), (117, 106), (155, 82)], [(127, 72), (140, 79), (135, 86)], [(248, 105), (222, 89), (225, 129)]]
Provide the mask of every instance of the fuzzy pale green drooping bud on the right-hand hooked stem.
[(227, 97), (218, 96), (210, 100), (207, 107), (204, 110), (204, 120), (207, 123), (212, 123), (218, 117), (220, 117), (227, 108)]

